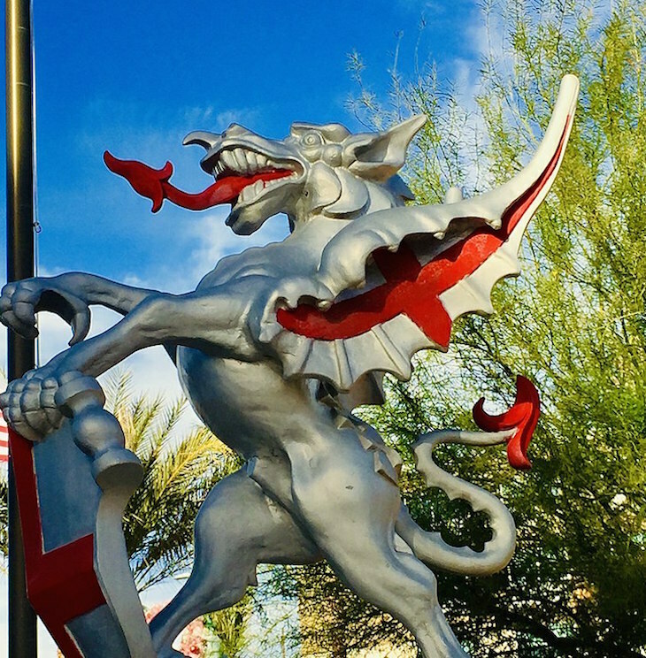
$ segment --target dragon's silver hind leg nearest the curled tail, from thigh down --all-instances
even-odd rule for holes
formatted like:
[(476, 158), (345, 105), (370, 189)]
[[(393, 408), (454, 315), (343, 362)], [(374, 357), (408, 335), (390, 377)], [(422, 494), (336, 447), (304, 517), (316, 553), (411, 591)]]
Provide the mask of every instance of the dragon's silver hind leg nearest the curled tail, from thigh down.
[(396, 548), (398, 487), (375, 472), (373, 453), (350, 432), (328, 434), (320, 443), (326, 449), (290, 450), (296, 515), (337, 576), (399, 619), (426, 658), (465, 658), (442, 614), (435, 575)]

